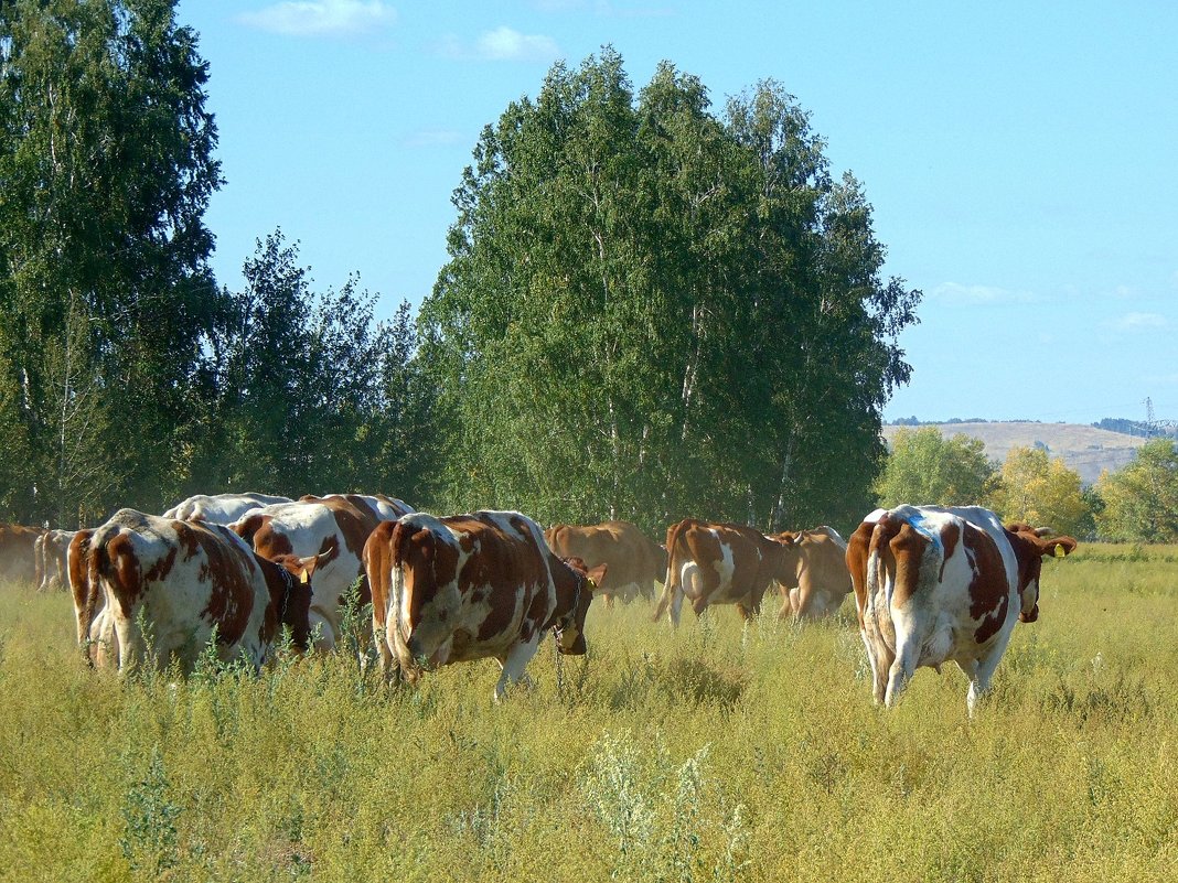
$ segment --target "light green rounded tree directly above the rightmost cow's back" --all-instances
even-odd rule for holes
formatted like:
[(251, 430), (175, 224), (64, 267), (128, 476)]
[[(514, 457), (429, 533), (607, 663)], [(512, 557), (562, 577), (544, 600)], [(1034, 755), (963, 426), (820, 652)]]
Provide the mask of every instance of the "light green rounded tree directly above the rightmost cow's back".
[(946, 439), (932, 426), (899, 430), (873, 490), (879, 505), (961, 506), (981, 503), (994, 480), (980, 439)]

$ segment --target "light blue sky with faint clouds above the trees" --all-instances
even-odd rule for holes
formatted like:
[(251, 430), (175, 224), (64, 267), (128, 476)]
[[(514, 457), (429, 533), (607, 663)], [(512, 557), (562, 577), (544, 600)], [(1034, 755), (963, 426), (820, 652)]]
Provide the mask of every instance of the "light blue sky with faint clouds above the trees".
[(317, 288), (429, 293), (481, 128), (605, 44), (728, 97), (774, 79), (920, 288), (885, 418), (1178, 419), (1178, 4), (183, 0), (240, 284), (282, 227)]

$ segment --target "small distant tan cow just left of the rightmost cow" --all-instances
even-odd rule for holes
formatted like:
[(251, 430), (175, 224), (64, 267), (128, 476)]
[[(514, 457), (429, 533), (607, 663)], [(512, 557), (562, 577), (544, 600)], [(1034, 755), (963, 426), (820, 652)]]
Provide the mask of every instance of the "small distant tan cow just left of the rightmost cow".
[(782, 599), (779, 616), (798, 619), (833, 616), (851, 593), (846, 540), (826, 525), (782, 531), (770, 539), (786, 547), (785, 569), (792, 575), (788, 582), (779, 582)]

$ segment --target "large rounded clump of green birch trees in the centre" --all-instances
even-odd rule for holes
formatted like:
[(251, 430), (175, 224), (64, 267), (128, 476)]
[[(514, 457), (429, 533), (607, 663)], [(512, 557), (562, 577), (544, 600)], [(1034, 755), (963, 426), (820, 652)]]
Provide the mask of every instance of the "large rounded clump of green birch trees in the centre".
[(776, 84), (710, 108), (660, 66), (556, 65), (483, 131), (422, 308), (443, 499), (542, 520), (827, 518), (866, 505), (919, 293)]

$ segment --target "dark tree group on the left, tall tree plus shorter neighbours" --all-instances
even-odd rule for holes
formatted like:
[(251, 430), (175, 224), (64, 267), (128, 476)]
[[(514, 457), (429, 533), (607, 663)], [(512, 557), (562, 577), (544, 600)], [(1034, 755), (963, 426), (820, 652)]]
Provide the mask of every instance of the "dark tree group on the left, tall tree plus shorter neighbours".
[(207, 64), (174, 0), (0, 2), (0, 518), (432, 482), (408, 304), (317, 293), (280, 232), (216, 284)]

